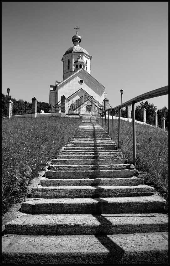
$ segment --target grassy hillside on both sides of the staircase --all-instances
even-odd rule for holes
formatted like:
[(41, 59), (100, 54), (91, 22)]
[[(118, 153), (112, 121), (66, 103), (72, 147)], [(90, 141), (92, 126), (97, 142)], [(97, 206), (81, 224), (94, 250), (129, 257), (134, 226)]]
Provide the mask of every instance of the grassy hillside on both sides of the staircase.
[[(18, 118), (2, 120), (2, 211), (27, 196), (27, 185), (72, 138), (81, 119)], [(111, 136), (111, 126), (110, 126)], [(118, 120), (114, 120), (118, 143)], [(133, 161), (132, 123), (121, 121), (120, 149)], [(136, 124), (136, 168), (146, 183), (168, 201), (168, 134)]]

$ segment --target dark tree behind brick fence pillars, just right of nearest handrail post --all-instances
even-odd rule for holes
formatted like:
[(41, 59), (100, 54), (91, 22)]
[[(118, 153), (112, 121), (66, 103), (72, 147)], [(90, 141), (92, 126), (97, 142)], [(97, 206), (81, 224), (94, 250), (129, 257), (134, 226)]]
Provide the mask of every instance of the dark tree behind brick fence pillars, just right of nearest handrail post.
[(141, 115), (141, 109), (145, 108), (146, 109), (146, 123), (153, 125), (154, 120), (153, 120), (153, 115), (157, 110), (157, 106), (155, 106), (153, 103), (149, 104), (148, 101), (141, 102), (140, 105), (137, 105), (135, 108), (135, 119), (138, 121), (142, 121), (142, 115)]

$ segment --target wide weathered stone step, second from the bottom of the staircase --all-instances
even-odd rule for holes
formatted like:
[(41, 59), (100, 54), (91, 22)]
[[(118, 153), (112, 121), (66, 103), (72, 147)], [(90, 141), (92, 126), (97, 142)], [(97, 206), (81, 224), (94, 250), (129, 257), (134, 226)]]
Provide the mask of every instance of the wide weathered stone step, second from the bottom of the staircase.
[(6, 234), (108, 235), (168, 232), (168, 215), (149, 214), (27, 214), (5, 225)]

